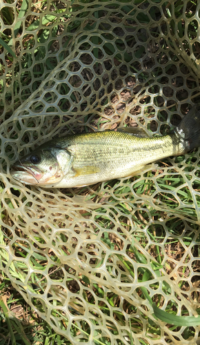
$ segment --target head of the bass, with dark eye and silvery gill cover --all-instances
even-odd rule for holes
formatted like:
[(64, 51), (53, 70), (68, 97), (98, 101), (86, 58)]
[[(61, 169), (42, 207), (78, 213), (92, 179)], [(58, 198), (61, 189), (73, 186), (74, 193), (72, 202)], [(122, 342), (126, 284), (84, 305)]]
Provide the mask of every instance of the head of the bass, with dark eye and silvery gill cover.
[(10, 175), (23, 184), (53, 185), (63, 179), (70, 160), (67, 150), (40, 146), (16, 161), (11, 167)]

